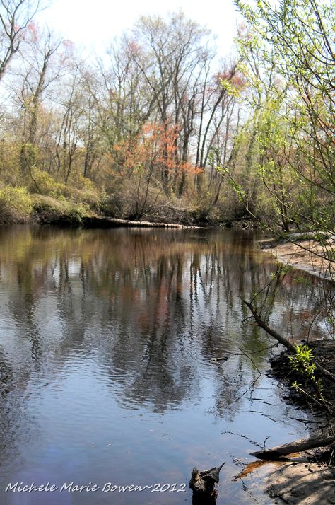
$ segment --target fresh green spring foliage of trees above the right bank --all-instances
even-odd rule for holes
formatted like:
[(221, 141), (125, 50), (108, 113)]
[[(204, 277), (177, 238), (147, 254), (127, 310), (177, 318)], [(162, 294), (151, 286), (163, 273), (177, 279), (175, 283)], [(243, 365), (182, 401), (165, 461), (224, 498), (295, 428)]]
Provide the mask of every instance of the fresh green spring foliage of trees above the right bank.
[(286, 231), (307, 221), (331, 230), (334, 9), (323, 0), (234, 1), (247, 21), (238, 43), (254, 108), (246, 164), (258, 165), (264, 183), (259, 214)]

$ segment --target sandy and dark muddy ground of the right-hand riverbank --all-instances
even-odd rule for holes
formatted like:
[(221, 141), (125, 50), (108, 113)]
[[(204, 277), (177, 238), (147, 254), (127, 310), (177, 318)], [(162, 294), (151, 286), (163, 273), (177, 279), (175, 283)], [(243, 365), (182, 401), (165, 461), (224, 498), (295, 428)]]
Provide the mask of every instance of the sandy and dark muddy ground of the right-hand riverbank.
[[(278, 262), (294, 267), (295, 269), (308, 272), (322, 279), (335, 279), (334, 260), (332, 256), (335, 250), (335, 236), (327, 236), (324, 240), (317, 240), (314, 233), (292, 233), (290, 240), (278, 240), (267, 238), (261, 240), (259, 246), (264, 252), (270, 253)], [(312, 347), (313, 355), (327, 370), (335, 373), (335, 346), (332, 340), (308, 342)], [(300, 410), (313, 411), (313, 417), (305, 422), (310, 436), (316, 431), (325, 431), (328, 427), (327, 416), (319, 412), (317, 405), (307, 402), (305, 397), (297, 393), (291, 384), (297, 380), (303, 383), (307, 393), (315, 392), (311, 385), (301, 377), (294, 376), (288, 360), (288, 352), (283, 352), (271, 361), (272, 374), (286, 385), (286, 393), (283, 400), (292, 405), (297, 405)], [(325, 399), (335, 405), (334, 383), (322, 378), (323, 394)], [(334, 414), (331, 414), (334, 424)], [(304, 422), (302, 420), (302, 422)], [(335, 504), (335, 468), (334, 458), (331, 461), (331, 453), (334, 444), (326, 448), (313, 449), (304, 453), (296, 454), (297, 460), (290, 459), (274, 465), (273, 470), (266, 476), (264, 482), (266, 494), (274, 503), (285, 504)], [(292, 457), (295, 455), (292, 455)], [(329, 463), (331, 461), (331, 466)]]

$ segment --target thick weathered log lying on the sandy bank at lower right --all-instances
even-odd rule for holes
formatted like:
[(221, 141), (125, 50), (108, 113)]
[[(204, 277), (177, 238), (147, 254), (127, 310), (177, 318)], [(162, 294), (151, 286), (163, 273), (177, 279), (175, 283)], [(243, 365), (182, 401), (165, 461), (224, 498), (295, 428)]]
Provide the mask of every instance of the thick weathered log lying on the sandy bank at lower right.
[(251, 455), (261, 460), (278, 460), (291, 453), (299, 453), (300, 451), (307, 451), (307, 449), (329, 446), (329, 444), (333, 442), (334, 435), (321, 434), (312, 436), (310, 439), (296, 440), (294, 442), (284, 443), (283, 446), (256, 451), (251, 453)]

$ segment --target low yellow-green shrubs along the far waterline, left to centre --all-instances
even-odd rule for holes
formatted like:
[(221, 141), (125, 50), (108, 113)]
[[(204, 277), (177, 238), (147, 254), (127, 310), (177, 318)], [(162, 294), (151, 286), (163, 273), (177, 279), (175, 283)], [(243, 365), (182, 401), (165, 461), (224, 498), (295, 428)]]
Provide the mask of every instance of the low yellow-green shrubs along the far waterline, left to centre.
[[(74, 188), (67, 188), (73, 193)], [(66, 193), (65, 193), (66, 194)], [(199, 214), (195, 207), (179, 207), (170, 200), (143, 216), (124, 215), (110, 209), (106, 197), (93, 190), (76, 190), (76, 199), (42, 194), (31, 194), (27, 187), (0, 187), (0, 225), (52, 224), (55, 226), (83, 226), (107, 228), (116, 226), (184, 228), (210, 226), (257, 227), (247, 214), (237, 218), (218, 219), (218, 216)], [(108, 199), (107, 199), (108, 200)]]

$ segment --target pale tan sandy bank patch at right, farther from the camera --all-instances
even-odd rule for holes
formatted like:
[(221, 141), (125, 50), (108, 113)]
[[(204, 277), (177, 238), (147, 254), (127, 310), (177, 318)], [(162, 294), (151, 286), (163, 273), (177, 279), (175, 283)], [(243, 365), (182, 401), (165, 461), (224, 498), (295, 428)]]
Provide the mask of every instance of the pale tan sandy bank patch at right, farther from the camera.
[[(310, 235), (310, 236), (309, 236)], [(268, 238), (261, 240), (259, 246), (266, 253), (271, 253), (284, 265), (290, 265), (322, 279), (335, 279), (335, 236), (329, 236), (320, 243), (313, 234), (293, 233), (290, 240)]]

